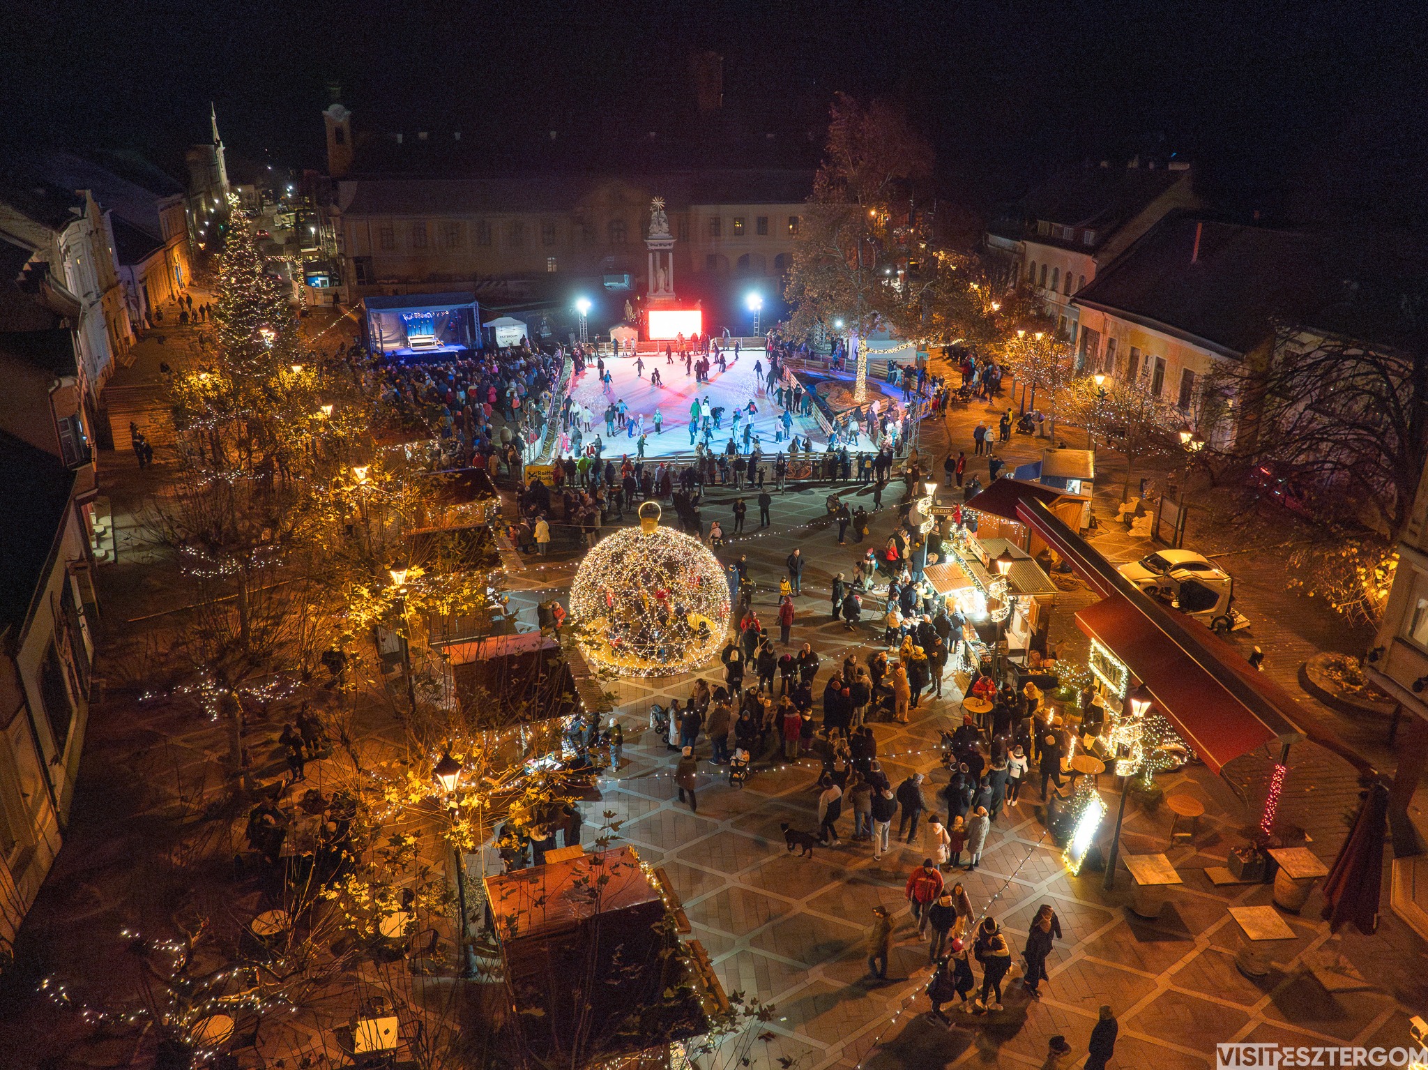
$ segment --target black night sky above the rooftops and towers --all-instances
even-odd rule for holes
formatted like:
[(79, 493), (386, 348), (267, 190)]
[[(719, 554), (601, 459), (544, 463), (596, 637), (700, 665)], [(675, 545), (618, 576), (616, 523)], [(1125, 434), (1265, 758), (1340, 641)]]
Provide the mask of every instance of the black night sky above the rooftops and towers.
[(977, 209), (1060, 164), (1177, 151), (1232, 209), (1404, 223), (1428, 177), (1425, 10), (40, 0), (0, 44), (0, 137), (141, 149), (171, 169), (211, 99), (230, 159), (321, 166), (337, 81), (358, 129), (454, 127), (513, 151), (558, 130), (578, 166), (680, 130), (688, 54), (714, 49), (728, 121), (777, 130), (794, 164), (811, 151), (800, 131), (845, 90), (902, 100), (934, 141), (940, 191)]

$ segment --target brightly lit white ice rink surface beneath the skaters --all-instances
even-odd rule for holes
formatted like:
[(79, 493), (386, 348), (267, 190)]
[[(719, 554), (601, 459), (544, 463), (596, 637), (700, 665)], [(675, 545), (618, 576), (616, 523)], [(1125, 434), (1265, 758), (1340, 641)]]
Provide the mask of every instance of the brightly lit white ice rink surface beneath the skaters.
[[(645, 427), (645, 457), (671, 457), (675, 454), (688, 454), (694, 450), (690, 444), (690, 406), (694, 399), (708, 397), (710, 404), (724, 409), (723, 430), (714, 431), (711, 440), (711, 449), (723, 450), (728, 444), (730, 439), (730, 416), (737, 406), (747, 406), (750, 399), (758, 406), (758, 413), (754, 416), (754, 434), (760, 439), (760, 449), (764, 451), (765, 457), (773, 457), (775, 453), (788, 451), (788, 440), (774, 441), (775, 430), (783, 424), (780, 417), (783, 410), (774, 403), (774, 400), (765, 394), (757, 391), (757, 383), (754, 376), (754, 363), (758, 361), (767, 374), (768, 361), (763, 350), (755, 350), (753, 353), (744, 351), (738, 360), (731, 360), (727, 371), (720, 371), (718, 364), (710, 370), (710, 381), (695, 386), (694, 376), (685, 374), (684, 361), (675, 356), (673, 364), (667, 364), (664, 354), (640, 354), (644, 360), (644, 374), (635, 376), (635, 359), (634, 357), (605, 357), (605, 367), (610, 369), (611, 384), (608, 393), (604, 386), (597, 380), (595, 366), (587, 364), (584, 373), (575, 380), (571, 393), (575, 400), (580, 401), (581, 407), (593, 409), (594, 416), (591, 417), (591, 430), (585, 434), (585, 444), (590, 444), (595, 433), (605, 443), (604, 456), (618, 459), (628, 453), (631, 457), (635, 454), (635, 443), (638, 440), (638, 433), (630, 436), (627, 431), (620, 431), (617, 429), (613, 439), (605, 436), (604, 411), (605, 406), (611, 401), (618, 403), (624, 399), (624, 403), (631, 414), (631, 417), (638, 417), (644, 413), (644, 427)], [(660, 369), (660, 374), (664, 379), (663, 386), (650, 386), (650, 371), (653, 369)], [(830, 377), (841, 379), (843, 376), (833, 373)], [(851, 376), (847, 377), (851, 383)], [(902, 391), (892, 391), (887, 383), (868, 380), (868, 391), (871, 396), (883, 393), (884, 397), (901, 401)], [(654, 433), (654, 410), (658, 409), (664, 416), (664, 431), (661, 434)], [(744, 421), (740, 420), (740, 434), (737, 439), (737, 446), (741, 453), (744, 453)], [(795, 416), (793, 423), (793, 433), (798, 436), (800, 440), (811, 439), (813, 449), (821, 451), (828, 446), (828, 436), (818, 427), (818, 423), (811, 416)], [(864, 433), (858, 436), (858, 443), (851, 447), (854, 453), (877, 453), (877, 446)]]

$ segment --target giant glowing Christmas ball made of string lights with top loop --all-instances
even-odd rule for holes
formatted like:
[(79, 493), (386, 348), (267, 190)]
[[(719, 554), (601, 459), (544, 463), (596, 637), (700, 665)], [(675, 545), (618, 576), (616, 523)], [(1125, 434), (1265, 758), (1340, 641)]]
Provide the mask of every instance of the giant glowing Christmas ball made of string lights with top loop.
[(640, 527), (595, 543), (570, 589), (580, 644), (620, 676), (673, 676), (708, 661), (728, 627), (728, 581), (697, 539), (660, 527), (660, 506), (640, 506)]

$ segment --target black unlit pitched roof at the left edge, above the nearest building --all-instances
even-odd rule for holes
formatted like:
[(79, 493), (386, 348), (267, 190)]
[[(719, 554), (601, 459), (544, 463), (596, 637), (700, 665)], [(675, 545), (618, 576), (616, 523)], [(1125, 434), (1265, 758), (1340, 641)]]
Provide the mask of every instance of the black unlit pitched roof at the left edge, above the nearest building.
[(0, 626), (24, 626), (73, 489), (74, 473), (59, 457), (0, 431), (0, 501), (9, 516), (0, 524)]

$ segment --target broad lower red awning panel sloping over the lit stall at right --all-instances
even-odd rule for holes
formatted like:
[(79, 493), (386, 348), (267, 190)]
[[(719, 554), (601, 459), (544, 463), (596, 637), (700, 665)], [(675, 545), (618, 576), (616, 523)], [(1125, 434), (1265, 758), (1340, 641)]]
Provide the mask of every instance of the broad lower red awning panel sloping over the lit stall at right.
[[(1157, 710), (1215, 773), (1227, 761), (1295, 731), (1292, 724), (1250, 709), (1118, 594), (1078, 610), (1075, 623), (1125, 663), (1155, 696)], [(1208, 630), (1205, 637), (1214, 639)]]

